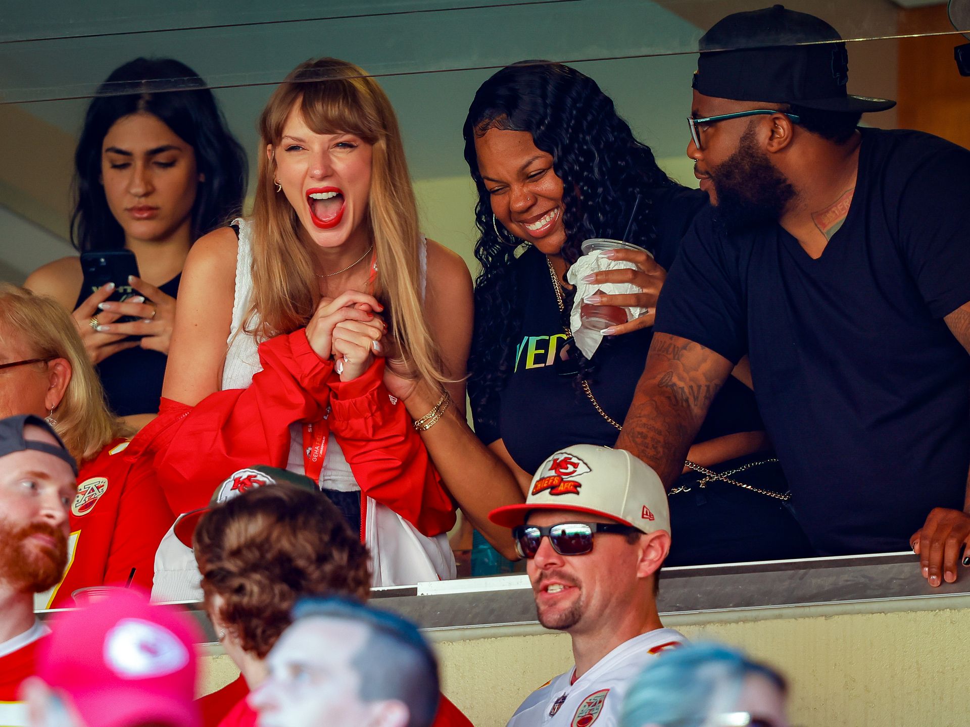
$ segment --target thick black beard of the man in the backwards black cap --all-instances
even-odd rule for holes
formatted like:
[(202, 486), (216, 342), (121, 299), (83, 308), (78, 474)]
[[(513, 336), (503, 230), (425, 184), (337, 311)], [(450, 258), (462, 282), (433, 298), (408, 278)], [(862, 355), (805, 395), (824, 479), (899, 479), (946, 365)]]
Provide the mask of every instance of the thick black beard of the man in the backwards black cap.
[(711, 172), (716, 219), (727, 232), (777, 222), (795, 195), (794, 187), (758, 147), (754, 130), (741, 136), (737, 151)]

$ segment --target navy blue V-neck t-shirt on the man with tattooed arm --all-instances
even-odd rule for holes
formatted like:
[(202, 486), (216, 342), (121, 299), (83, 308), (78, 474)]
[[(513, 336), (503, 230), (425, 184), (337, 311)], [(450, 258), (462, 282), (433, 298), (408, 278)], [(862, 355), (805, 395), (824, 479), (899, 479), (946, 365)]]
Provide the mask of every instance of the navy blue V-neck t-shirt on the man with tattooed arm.
[(863, 129), (857, 186), (818, 260), (777, 224), (702, 213), (655, 332), (751, 358), (761, 416), (820, 553), (902, 551), (962, 509), (970, 356), (943, 317), (970, 300), (970, 151)]

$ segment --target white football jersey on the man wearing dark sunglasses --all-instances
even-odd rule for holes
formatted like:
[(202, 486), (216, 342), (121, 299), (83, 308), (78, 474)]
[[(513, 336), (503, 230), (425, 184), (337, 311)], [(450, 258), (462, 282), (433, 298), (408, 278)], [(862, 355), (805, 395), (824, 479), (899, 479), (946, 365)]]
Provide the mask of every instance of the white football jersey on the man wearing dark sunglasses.
[(575, 668), (530, 694), (508, 727), (616, 727), (630, 681), (659, 653), (687, 643), (672, 628), (635, 636), (603, 656), (575, 682)]

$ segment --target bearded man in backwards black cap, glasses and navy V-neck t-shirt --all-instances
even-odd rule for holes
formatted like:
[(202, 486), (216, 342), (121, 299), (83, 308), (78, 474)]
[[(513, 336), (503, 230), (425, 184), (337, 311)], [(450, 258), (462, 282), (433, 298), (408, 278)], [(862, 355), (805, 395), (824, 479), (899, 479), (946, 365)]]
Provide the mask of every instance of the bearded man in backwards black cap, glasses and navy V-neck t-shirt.
[[(820, 554), (970, 565), (970, 152), (857, 128), (838, 33), (780, 5), (701, 38), (688, 155), (713, 206), (667, 275), (618, 446), (669, 487), (749, 354)], [(743, 523), (738, 523), (743, 527)]]

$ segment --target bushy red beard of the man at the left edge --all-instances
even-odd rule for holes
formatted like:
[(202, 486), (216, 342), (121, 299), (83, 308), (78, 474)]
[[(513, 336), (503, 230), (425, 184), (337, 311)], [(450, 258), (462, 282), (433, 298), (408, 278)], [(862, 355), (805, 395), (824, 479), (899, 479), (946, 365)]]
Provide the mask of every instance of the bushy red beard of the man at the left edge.
[[(28, 543), (31, 535), (53, 538), (54, 546)], [(67, 537), (46, 522), (14, 527), (0, 520), (0, 581), (31, 593), (43, 593), (60, 583), (67, 565)]]

